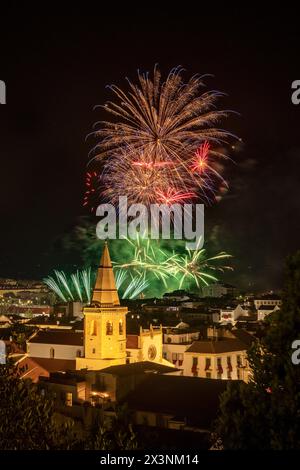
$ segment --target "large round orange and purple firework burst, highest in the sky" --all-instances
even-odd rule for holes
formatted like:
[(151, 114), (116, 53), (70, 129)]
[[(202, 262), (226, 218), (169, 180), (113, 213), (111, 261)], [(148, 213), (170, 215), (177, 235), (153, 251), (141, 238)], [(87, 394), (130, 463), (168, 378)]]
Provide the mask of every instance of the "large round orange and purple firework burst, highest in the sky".
[[(217, 127), (228, 112), (216, 109), (221, 93), (203, 92), (199, 76), (184, 82), (182, 72), (179, 67), (171, 70), (165, 81), (157, 67), (153, 79), (138, 73), (137, 85), (128, 81), (129, 93), (110, 86), (116, 101), (104, 109), (117, 122), (96, 123), (98, 143), (92, 150), (92, 160), (101, 168), (102, 195), (110, 202), (127, 195), (149, 205), (169, 188), (203, 200), (214, 193), (213, 178), (203, 174), (209, 146), (223, 146), (231, 136)], [(217, 151), (212, 156), (225, 157)]]

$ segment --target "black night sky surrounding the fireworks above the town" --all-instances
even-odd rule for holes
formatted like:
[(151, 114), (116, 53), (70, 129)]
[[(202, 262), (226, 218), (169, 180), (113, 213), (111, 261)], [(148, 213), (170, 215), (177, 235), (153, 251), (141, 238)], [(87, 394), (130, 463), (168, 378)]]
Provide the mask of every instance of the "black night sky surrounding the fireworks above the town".
[[(175, 5), (175, 4), (174, 4)], [(83, 9), (83, 7), (82, 7)], [(89, 13), (89, 14), (88, 14)], [(80, 217), (84, 174), (107, 84), (137, 69), (176, 65), (214, 75), (227, 93), (224, 127), (243, 139), (226, 166), (230, 189), (206, 210), (206, 236), (234, 255), (226, 279), (251, 289), (280, 288), (284, 258), (299, 248), (300, 20), (292, 12), (227, 15), (155, 11), (1, 15), (0, 277), (41, 278), (59, 266), (55, 243)], [(75, 261), (74, 261), (75, 262)]]

